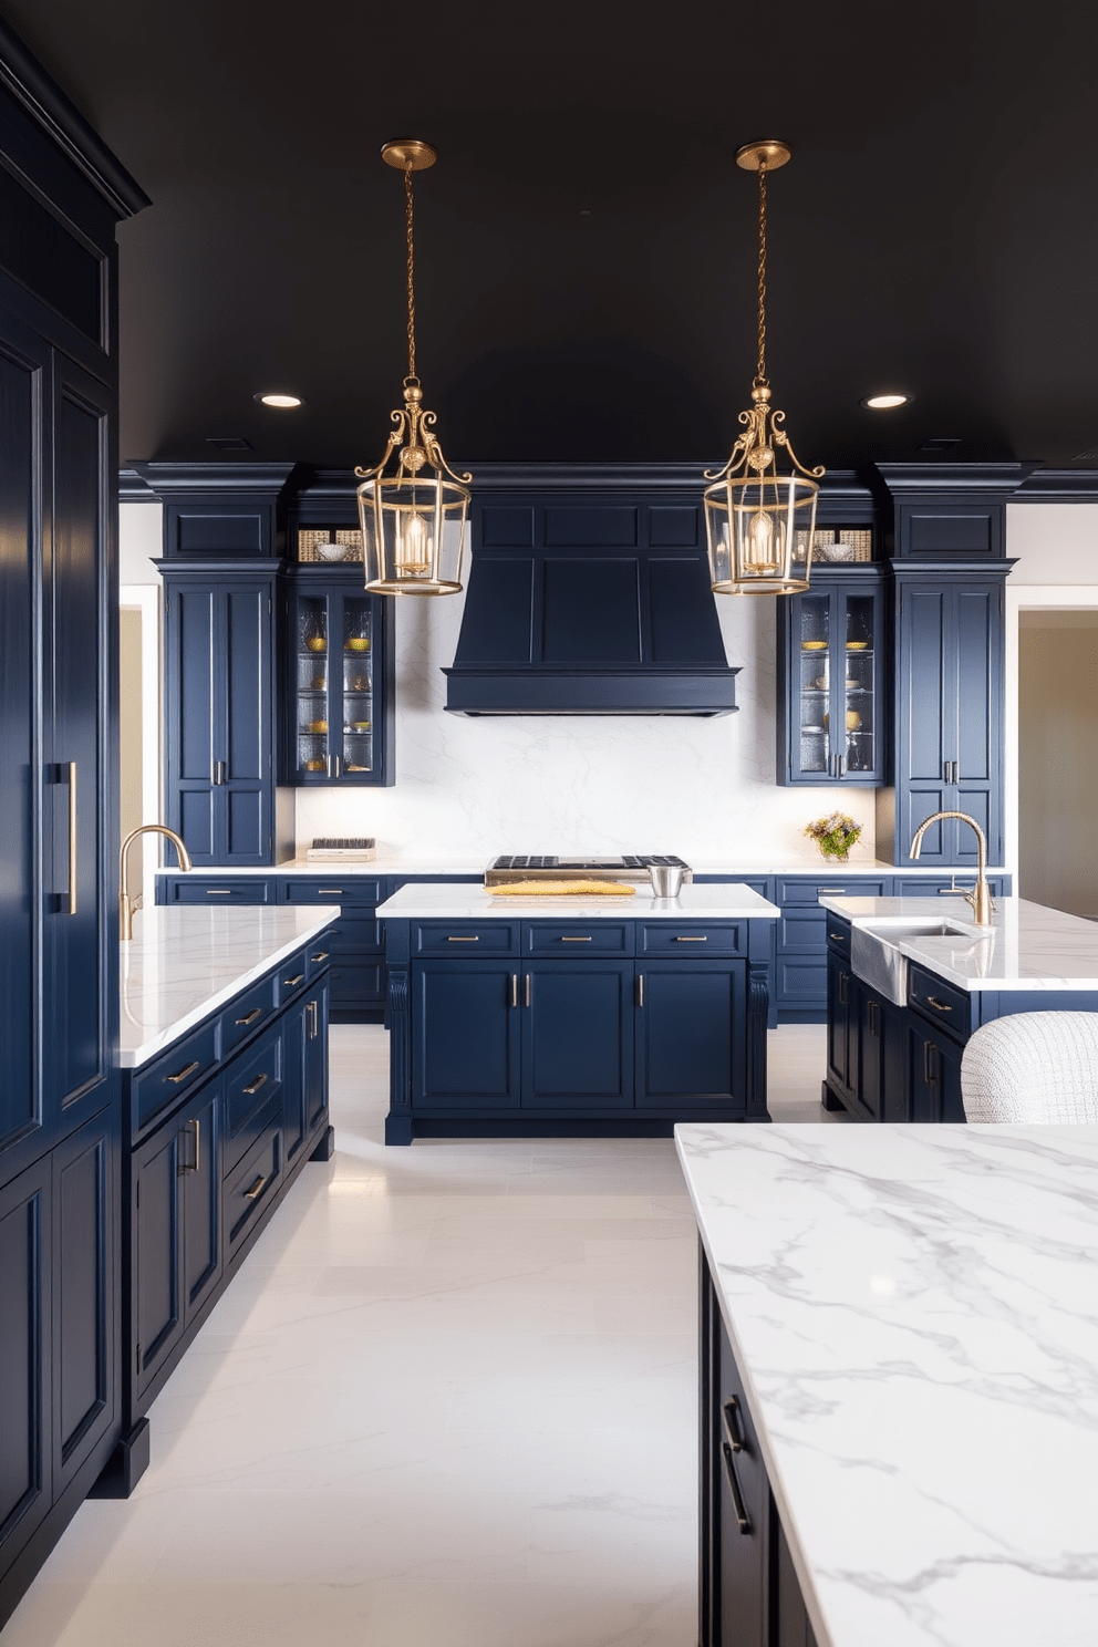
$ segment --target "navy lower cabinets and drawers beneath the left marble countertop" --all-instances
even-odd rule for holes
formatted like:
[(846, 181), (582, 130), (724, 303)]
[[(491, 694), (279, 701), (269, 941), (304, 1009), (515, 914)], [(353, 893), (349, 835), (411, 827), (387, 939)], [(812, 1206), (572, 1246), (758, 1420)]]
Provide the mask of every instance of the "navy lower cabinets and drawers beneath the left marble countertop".
[[(298, 1169), (309, 1158), (331, 1155), (329, 978), (326, 960), (316, 962), (323, 942), (250, 985), (155, 1064), (125, 1072), (125, 1135), (135, 1140), (123, 1153), (122, 1191), (125, 1377), (122, 1441), (97, 1487), (104, 1497), (133, 1489), (148, 1458), (143, 1415)], [(280, 1001), (273, 1018), (270, 1010), (250, 1006), (257, 998)], [(250, 1019), (255, 1028), (234, 1039)], [(212, 1049), (212, 1067), (199, 1069), (199, 1061), (188, 1057), (199, 1043)], [(150, 1080), (156, 1082), (161, 1069), (170, 1071), (166, 1080), (178, 1080), (191, 1067), (198, 1085), (188, 1087), (170, 1113), (161, 1107), (143, 1122)], [(86, 1296), (87, 1260), (74, 1275)], [(61, 1286), (64, 1293), (64, 1276)], [(54, 1364), (63, 1365), (61, 1357)], [(89, 1390), (84, 1375), (71, 1403), (74, 1415), (81, 1405), (92, 1411)]]

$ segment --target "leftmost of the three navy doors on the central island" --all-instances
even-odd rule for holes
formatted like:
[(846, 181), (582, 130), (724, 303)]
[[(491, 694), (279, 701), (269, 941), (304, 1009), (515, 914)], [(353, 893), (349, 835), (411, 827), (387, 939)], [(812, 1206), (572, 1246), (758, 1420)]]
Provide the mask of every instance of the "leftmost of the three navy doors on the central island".
[(479, 962), (416, 962), (412, 1023), (413, 1102), (476, 1108), (519, 1105), (520, 1008), (510, 968)]

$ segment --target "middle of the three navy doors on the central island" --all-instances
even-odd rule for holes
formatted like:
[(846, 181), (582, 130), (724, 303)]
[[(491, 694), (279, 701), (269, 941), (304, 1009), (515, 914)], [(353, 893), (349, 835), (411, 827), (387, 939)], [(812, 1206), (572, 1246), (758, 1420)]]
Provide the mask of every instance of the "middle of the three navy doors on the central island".
[(632, 1107), (632, 963), (528, 968), (522, 1102), (532, 1108)]

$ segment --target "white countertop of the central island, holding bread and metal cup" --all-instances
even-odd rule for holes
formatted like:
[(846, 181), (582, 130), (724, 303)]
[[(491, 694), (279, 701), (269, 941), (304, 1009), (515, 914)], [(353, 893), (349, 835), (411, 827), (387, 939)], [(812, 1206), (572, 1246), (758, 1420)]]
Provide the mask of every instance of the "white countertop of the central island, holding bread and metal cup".
[(749, 886), (683, 886), (678, 898), (654, 898), (637, 886), (630, 896), (594, 898), (492, 898), (482, 886), (441, 881), (436, 886), (402, 886), (384, 904), (379, 917), (441, 921), (777, 921), (780, 911)]

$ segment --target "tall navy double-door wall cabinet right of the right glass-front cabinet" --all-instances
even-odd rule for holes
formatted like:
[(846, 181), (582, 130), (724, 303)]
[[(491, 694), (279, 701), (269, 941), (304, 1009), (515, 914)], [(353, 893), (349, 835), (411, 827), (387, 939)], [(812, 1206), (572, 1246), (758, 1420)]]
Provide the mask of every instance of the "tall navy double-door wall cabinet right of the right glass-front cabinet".
[[(991, 568), (896, 572), (896, 703), (892, 786), (877, 802), (877, 843), (905, 863), (933, 812), (968, 812), (1003, 860), (1003, 634), (1009, 562)], [(976, 863), (963, 824), (935, 824), (922, 863)]]

